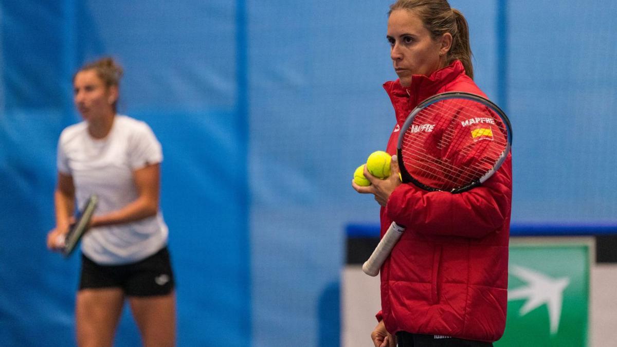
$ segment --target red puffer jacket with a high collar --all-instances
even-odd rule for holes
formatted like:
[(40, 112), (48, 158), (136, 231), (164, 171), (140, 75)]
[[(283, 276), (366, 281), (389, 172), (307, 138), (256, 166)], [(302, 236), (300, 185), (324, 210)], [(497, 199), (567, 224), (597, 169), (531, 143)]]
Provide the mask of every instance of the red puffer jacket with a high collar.
[[(404, 88), (387, 82), (397, 124), (386, 151), (396, 153), (399, 128), (421, 101), (445, 91), (484, 96), (453, 62)], [(497, 341), (505, 329), (511, 156), (470, 191), (429, 192), (400, 185), (381, 209), (381, 235), (392, 220), (405, 233), (381, 268), (381, 308), (388, 332)]]

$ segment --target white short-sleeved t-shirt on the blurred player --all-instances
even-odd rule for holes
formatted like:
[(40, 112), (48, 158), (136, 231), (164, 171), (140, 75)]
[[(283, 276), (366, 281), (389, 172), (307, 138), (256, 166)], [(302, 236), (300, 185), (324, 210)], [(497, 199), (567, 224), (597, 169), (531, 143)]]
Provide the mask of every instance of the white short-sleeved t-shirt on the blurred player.
[[(151, 128), (125, 115), (116, 115), (106, 138), (88, 133), (88, 123), (71, 125), (58, 142), (57, 166), (73, 177), (77, 207), (97, 194), (96, 214), (121, 209), (138, 198), (133, 171), (163, 160)], [(167, 225), (161, 212), (126, 224), (96, 227), (81, 241), (81, 251), (98, 264), (126, 264), (151, 256), (167, 245)]]

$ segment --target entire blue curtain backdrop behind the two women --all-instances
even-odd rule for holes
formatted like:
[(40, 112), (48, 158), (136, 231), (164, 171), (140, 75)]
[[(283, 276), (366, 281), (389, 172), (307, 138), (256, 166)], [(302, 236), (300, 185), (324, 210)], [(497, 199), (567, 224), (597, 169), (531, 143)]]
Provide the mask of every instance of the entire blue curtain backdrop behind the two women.
[[(78, 257), (45, 236), (72, 75), (102, 55), (164, 148), (178, 345), (338, 345), (344, 227), (378, 220), (352, 172), (394, 126), (389, 3), (0, 0), (0, 345), (73, 341)], [(513, 222), (615, 223), (617, 4), (450, 4), (513, 124)]]

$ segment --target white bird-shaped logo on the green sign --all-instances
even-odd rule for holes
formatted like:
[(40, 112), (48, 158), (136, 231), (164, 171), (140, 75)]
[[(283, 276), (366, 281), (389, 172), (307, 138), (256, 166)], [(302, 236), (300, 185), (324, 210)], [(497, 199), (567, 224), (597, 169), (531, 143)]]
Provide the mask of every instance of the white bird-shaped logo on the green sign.
[(508, 301), (527, 299), (521, 307), (521, 317), (536, 309), (536, 307), (546, 304), (549, 310), (550, 333), (551, 335), (557, 333), (561, 317), (561, 305), (563, 304), (563, 290), (570, 283), (569, 278), (551, 278), (518, 265), (513, 265), (510, 273), (527, 282), (527, 286), (508, 290)]

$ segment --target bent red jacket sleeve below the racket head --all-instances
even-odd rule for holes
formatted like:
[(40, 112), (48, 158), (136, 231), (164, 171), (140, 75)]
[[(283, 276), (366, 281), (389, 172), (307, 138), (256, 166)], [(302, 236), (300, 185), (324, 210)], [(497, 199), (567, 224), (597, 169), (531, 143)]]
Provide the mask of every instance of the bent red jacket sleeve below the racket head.
[(510, 217), (511, 156), (482, 185), (463, 193), (425, 191), (402, 184), (390, 195), (386, 215), (397, 224), (430, 235), (482, 238)]

